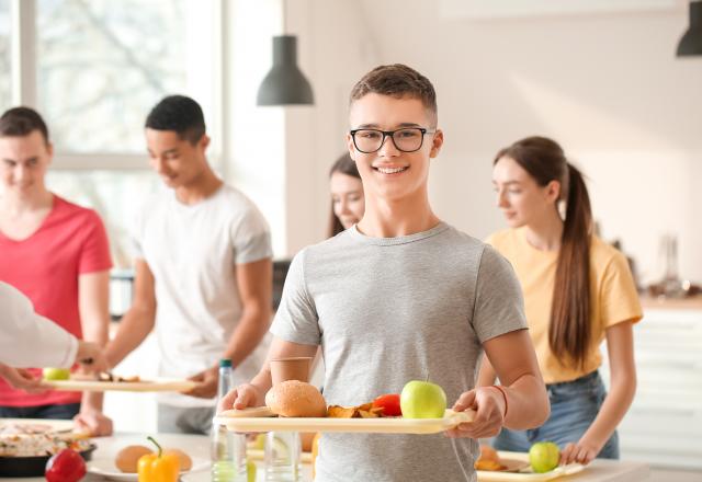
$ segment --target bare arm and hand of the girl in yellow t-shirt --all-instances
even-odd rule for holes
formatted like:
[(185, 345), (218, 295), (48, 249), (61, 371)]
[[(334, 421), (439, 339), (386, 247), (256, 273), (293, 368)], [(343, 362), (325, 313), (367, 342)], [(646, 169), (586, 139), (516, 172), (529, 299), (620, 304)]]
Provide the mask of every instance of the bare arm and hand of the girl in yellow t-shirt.
[(567, 444), (561, 454), (563, 463), (589, 463), (612, 436), (636, 393), (634, 334), (629, 321), (607, 329), (610, 360), (610, 390), (592, 425), (577, 443)]

